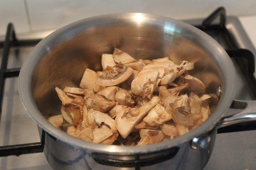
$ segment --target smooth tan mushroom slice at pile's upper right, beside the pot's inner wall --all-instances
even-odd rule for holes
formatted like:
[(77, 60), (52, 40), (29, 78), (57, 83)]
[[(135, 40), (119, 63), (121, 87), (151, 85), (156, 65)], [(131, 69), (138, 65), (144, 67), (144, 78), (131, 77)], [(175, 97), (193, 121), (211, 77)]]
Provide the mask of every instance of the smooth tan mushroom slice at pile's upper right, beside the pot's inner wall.
[(189, 74), (185, 74), (184, 79), (185, 82), (189, 83), (189, 91), (193, 91), (196, 94), (202, 94), (205, 92), (205, 85), (200, 79), (193, 77)]

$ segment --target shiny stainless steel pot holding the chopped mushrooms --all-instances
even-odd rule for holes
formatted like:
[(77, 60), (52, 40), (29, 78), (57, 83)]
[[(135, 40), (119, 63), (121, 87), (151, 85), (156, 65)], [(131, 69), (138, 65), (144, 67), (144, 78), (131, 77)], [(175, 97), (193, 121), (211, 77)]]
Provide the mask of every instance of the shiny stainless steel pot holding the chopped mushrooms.
[[(169, 56), (174, 62), (195, 62), (193, 75), (219, 89), (218, 105), (201, 126), (170, 141), (124, 147), (85, 142), (53, 127), (47, 119), (59, 113), (55, 86), (77, 86), (85, 68), (99, 70), (102, 53), (121, 48), (131, 56)], [(235, 70), (215, 40), (189, 24), (151, 14), (108, 14), (80, 20), (58, 29), (38, 43), (23, 64), (20, 98), (26, 111), (46, 131), (44, 153), (54, 170), (175, 169), (199, 170), (206, 165), (215, 142), (216, 128), (256, 119), (249, 102), (234, 102), (245, 110), (222, 118), (233, 101)]]

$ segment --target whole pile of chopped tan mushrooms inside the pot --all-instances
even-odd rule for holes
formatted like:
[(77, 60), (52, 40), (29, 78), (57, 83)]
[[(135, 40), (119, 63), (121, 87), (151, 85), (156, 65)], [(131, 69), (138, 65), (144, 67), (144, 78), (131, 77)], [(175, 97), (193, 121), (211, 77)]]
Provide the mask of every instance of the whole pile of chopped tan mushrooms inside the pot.
[(211, 114), (193, 62), (139, 59), (115, 48), (102, 54), (102, 71), (86, 68), (79, 88), (55, 90), (61, 114), (49, 122), (67, 134), (99, 144), (146, 145), (188, 133)]

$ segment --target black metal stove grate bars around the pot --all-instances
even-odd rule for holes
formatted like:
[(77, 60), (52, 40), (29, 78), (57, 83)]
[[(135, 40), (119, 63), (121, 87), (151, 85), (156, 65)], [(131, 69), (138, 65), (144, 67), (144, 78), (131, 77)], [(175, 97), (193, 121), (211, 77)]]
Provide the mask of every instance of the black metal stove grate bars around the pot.
[[(220, 17), (220, 22), (218, 24), (212, 24), (212, 22)], [(233, 40), (225, 26), (226, 22), (226, 12), (223, 7), (216, 9), (212, 14), (207, 17), (202, 25), (195, 26), (202, 31), (221, 31), (224, 34), (226, 41), (230, 44), (230, 49), (226, 50), (230, 57), (236, 57), (241, 63), (244, 74), (247, 77), (248, 82), (256, 94), (256, 80), (253, 77), (255, 72), (254, 66), (254, 56), (253, 54), (246, 49), (238, 49), (233, 43)], [(4, 42), (0, 42), (0, 48), (3, 48), (2, 63), (0, 68), (0, 118), (2, 113), (2, 103), (3, 103), (3, 92), (5, 79), (9, 77), (18, 77), (20, 68), (7, 69), (9, 51), (11, 47), (17, 46), (31, 46), (36, 45), (40, 40), (17, 40), (15, 36), (15, 30), (12, 23), (9, 23), (6, 31), (6, 38)], [(246, 61), (246, 62), (244, 62)], [(228, 133), (228, 132), (237, 132), (237, 131), (246, 131), (246, 130), (256, 130), (256, 121), (241, 123), (238, 125), (231, 125), (229, 127), (222, 127), (218, 129), (218, 133)], [(9, 146), (0, 147), (0, 157), (1, 156), (20, 156), (22, 154), (29, 153), (40, 153), (44, 150), (44, 136), (45, 132), (43, 130), (41, 135), (41, 142), (37, 143), (28, 143), (28, 144), (16, 144)], [(120, 162), (121, 163), (121, 162)], [(140, 165), (134, 165), (135, 169), (140, 169)]]

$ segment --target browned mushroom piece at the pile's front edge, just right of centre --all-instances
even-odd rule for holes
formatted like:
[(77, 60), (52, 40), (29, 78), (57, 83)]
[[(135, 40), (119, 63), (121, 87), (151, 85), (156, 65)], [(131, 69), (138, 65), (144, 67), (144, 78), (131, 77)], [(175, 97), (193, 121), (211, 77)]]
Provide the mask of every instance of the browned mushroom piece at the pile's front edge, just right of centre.
[[(148, 136), (148, 137), (145, 137)], [(166, 135), (161, 130), (140, 129), (140, 141), (137, 145), (147, 145), (161, 142)], [(146, 140), (147, 139), (147, 140)]]

